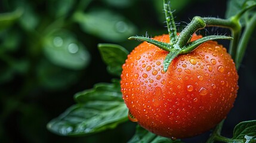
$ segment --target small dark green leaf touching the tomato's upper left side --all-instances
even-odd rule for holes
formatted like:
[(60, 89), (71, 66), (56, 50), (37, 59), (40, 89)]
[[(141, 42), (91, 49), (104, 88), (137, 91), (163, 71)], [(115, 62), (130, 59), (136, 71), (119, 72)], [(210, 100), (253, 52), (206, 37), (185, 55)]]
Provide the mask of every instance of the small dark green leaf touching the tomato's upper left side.
[(98, 49), (101, 58), (104, 63), (107, 64), (107, 71), (113, 75), (120, 76), (122, 73), (122, 65), (125, 63), (127, 55), (129, 54), (127, 49), (120, 45), (110, 43), (100, 43), (98, 44)]

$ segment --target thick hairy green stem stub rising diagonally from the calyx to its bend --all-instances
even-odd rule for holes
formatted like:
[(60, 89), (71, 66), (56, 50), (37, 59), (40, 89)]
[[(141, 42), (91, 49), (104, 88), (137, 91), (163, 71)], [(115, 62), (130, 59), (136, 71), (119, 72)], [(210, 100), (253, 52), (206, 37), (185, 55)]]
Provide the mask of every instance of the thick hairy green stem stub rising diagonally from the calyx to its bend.
[(181, 49), (189, 42), (192, 35), (199, 29), (203, 29), (206, 26), (205, 21), (201, 17), (194, 17), (193, 20), (182, 30), (180, 35), (175, 41), (174, 48)]

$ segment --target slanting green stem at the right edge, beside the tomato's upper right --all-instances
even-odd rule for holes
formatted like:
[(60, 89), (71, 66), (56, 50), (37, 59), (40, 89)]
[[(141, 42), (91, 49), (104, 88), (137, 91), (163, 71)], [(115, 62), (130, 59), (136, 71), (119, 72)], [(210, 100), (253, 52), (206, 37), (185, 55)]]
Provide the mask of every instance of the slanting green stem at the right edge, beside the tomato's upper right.
[(255, 27), (256, 27), (256, 15), (254, 15), (249, 21), (249, 23), (246, 24), (245, 30), (240, 39), (238, 50), (237, 50), (238, 52), (236, 53), (236, 58), (235, 58), (236, 69), (239, 69), (240, 67), (240, 63), (242, 62), (243, 56), (245, 54), (246, 46), (248, 45), (250, 36), (254, 32)]

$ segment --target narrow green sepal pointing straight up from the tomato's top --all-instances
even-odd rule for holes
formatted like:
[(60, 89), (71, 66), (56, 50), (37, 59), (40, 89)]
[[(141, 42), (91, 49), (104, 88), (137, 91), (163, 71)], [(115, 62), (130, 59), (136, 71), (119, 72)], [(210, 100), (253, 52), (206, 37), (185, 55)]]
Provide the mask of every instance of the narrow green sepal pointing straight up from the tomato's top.
[(167, 29), (169, 33), (170, 44), (173, 45), (175, 40), (177, 39), (175, 21), (171, 11), (170, 1), (168, 2), (166, 0), (163, 0), (163, 1), (164, 1), (165, 19), (166, 19)]

